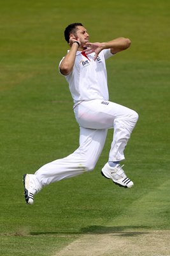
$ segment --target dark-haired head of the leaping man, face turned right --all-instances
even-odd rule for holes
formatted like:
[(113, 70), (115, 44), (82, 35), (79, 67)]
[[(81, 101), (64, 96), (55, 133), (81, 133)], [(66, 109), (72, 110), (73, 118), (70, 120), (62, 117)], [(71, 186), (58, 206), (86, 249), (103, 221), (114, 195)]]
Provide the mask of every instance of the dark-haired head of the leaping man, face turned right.
[(87, 34), (87, 30), (83, 27), (83, 24), (81, 23), (69, 24), (69, 26), (67, 26), (67, 28), (65, 29), (64, 37), (68, 44), (69, 44), (69, 38), (72, 35), (74, 35), (75, 38), (83, 37), (82, 40), (89, 40), (89, 35)]

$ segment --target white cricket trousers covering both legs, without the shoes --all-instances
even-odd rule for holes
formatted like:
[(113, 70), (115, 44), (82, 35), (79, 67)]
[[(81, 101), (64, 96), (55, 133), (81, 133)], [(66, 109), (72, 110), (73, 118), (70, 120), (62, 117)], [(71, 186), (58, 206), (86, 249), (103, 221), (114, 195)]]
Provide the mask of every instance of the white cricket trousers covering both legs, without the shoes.
[(132, 109), (104, 100), (85, 100), (74, 107), (80, 125), (80, 147), (73, 154), (45, 164), (35, 173), (41, 188), (93, 170), (101, 155), (107, 131), (114, 129), (109, 161), (121, 161), (124, 148), (138, 121)]

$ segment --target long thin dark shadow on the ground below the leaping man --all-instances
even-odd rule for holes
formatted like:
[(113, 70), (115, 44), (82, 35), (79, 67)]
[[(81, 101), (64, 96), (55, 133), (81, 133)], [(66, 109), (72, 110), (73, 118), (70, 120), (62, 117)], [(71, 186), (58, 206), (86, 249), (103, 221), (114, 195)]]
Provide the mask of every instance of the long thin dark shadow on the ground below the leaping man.
[[(113, 234), (114, 236), (139, 236), (147, 234), (148, 232), (134, 231), (141, 228), (148, 228), (144, 226), (125, 226), (125, 227), (106, 227), (106, 226), (89, 226), (81, 228), (80, 231), (59, 231), (59, 232), (30, 232), (31, 236), (39, 235), (62, 235), (62, 234)], [(133, 230), (132, 230), (133, 229)], [(130, 230), (130, 231), (129, 231)]]

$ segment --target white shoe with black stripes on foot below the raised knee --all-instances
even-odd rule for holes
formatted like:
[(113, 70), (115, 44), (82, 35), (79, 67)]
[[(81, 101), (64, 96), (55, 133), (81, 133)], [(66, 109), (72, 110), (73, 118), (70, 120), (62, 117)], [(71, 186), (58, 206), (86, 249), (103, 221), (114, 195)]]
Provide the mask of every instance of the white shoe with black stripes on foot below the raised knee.
[(122, 169), (124, 165), (120, 166), (117, 164), (115, 167), (111, 167), (108, 163), (106, 163), (101, 171), (101, 174), (106, 179), (111, 179), (113, 182), (124, 188), (132, 188), (134, 185), (132, 180), (130, 180), (126, 175), (124, 170)]

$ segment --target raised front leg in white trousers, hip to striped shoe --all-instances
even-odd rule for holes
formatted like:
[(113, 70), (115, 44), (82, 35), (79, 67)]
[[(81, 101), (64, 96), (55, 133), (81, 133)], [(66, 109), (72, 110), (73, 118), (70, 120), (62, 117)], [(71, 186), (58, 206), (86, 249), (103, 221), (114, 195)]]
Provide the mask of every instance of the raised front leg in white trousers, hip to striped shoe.
[(81, 102), (75, 109), (79, 124), (94, 129), (114, 128), (109, 161), (102, 174), (115, 184), (131, 188), (133, 182), (127, 178), (119, 162), (124, 157), (124, 149), (138, 120), (138, 114), (132, 109), (104, 100)]

